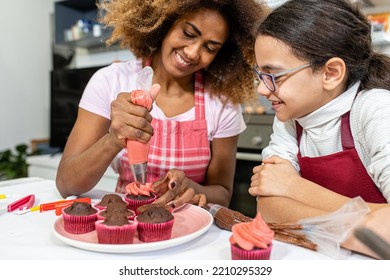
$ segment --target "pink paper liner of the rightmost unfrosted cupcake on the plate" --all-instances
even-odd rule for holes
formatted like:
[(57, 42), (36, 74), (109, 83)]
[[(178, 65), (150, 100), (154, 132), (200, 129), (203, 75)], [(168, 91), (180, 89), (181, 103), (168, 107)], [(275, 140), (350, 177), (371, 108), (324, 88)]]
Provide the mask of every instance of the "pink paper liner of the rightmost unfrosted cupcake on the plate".
[[(134, 219), (137, 221), (137, 217)], [(164, 223), (138, 222), (138, 239), (143, 242), (155, 242), (170, 239), (175, 218)]]

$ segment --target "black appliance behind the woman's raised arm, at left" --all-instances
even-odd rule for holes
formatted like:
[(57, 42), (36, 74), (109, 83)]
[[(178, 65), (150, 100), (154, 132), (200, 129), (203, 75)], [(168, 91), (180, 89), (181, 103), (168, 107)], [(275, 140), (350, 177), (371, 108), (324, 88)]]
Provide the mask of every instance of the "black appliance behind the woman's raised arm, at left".
[(92, 75), (102, 67), (51, 71), (50, 147), (63, 151), (76, 121), (84, 88)]

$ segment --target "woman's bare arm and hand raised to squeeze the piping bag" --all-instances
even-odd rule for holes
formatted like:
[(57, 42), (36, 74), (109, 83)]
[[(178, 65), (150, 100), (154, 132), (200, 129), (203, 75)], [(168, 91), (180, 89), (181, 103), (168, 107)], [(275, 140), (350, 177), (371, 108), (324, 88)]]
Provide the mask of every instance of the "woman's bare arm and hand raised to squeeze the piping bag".
[(91, 190), (126, 147), (126, 139), (150, 140), (151, 120), (146, 108), (131, 104), (129, 93), (120, 93), (111, 103), (111, 121), (80, 108), (57, 171), (60, 194), (66, 197)]

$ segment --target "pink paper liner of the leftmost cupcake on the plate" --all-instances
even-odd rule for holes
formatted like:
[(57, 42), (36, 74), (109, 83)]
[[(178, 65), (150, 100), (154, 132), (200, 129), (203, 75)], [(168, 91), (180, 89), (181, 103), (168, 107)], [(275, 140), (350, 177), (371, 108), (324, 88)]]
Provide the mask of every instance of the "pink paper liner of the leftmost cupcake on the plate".
[(82, 234), (95, 230), (97, 213), (88, 216), (73, 216), (65, 213), (64, 209), (62, 209), (62, 217), (64, 219), (64, 229), (67, 232)]

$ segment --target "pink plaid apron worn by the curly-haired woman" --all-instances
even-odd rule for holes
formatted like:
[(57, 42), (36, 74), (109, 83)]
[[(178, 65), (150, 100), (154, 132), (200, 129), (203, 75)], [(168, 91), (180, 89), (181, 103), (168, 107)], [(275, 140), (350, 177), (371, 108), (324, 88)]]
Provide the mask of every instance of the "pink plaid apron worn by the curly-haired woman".
[[(154, 135), (148, 157), (147, 181), (154, 182), (176, 168), (197, 183), (204, 183), (210, 162), (210, 142), (205, 118), (204, 88), (201, 72), (195, 73), (195, 120), (170, 121), (153, 119)], [(127, 159), (127, 150), (120, 159), (121, 173), (116, 192), (125, 193), (125, 187), (133, 182)]]

